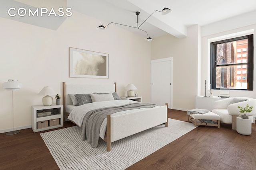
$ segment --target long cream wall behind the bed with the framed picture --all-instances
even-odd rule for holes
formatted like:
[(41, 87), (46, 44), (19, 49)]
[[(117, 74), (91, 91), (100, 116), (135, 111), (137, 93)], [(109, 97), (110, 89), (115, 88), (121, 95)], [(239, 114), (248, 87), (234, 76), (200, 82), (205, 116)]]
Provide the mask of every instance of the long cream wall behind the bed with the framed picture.
[[(15, 129), (31, 127), (31, 106), (42, 104), (38, 92), (52, 86), (62, 96), (62, 82), (117, 82), (120, 96), (125, 94), (124, 87), (133, 83), (143, 102), (150, 102), (151, 45), (145, 37), (115, 25), (98, 31), (102, 21), (74, 11), (56, 31), (4, 18), (0, 23), (0, 85), (18, 79), (24, 86), (14, 91)], [(109, 78), (69, 78), (69, 47), (109, 54)], [(12, 129), (12, 92), (0, 88), (0, 96), (3, 133)]]

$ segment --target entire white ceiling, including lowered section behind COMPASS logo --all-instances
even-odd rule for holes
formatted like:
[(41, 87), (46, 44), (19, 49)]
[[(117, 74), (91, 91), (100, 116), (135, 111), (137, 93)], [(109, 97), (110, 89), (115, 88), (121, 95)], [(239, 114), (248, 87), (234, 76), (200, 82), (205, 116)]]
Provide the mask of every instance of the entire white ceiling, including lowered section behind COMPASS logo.
[[(17, 20), (49, 29), (58, 29), (64, 22), (64, 17), (46, 17), (31, 20), (28, 17), (10, 17), (6, 10), (15, 6), (33, 8), (34, 2), (42, 0), (1, 0), (0, 1), (0, 17), (10, 20)], [(67, 6), (72, 11), (94, 17), (101, 20), (101, 23), (95, 25), (98, 27), (103, 24), (106, 26), (110, 22), (116, 22), (124, 25), (136, 27), (136, 14), (139, 15), (139, 25), (145, 21), (155, 10), (161, 11), (164, 7), (170, 8), (172, 11), (162, 16), (160, 12), (155, 12), (140, 29), (147, 31), (152, 38), (159, 37), (166, 33), (174, 35), (178, 38), (186, 37), (187, 27), (191, 25), (200, 25), (202, 27), (218, 21), (226, 21), (228, 19), (236, 21), (243, 25), (242, 20), (247, 20), (246, 24), (256, 23), (256, 0), (54, 0), (58, 1), (52, 4), (51, 0), (44, 0), (44, 5), (49, 3), (50, 6)], [(40, 6), (37, 6), (40, 8)], [(237, 18), (237, 19), (236, 19)], [(244, 21), (245, 22), (245, 21)], [(106, 29), (119, 26), (128, 29), (134, 33), (147, 36), (144, 31), (136, 28), (110, 24)]]

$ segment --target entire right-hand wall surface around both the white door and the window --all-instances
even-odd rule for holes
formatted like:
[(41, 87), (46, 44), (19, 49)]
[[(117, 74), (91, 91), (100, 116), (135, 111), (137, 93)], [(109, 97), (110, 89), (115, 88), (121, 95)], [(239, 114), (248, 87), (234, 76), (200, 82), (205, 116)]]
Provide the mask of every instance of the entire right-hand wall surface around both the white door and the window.
[[(220, 26), (220, 25), (218, 25)], [(204, 32), (214, 32), (211, 27), (204, 27)], [(238, 36), (238, 33), (256, 30), (256, 24), (229, 31), (222, 31), (201, 37), (201, 28), (194, 25), (188, 28), (188, 36), (178, 39), (172, 35), (164, 35), (152, 41), (151, 59), (173, 57), (173, 109), (188, 110), (195, 108), (195, 96), (205, 95), (205, 80), (207, 83), (206, 95), (210, 95), (210, 45), (209, 40), (227, 35)], [(254, 31), (253, 31), (254, 33)], [(229, 37), (229, 38), (232, 38)], [(254, 44), (256, 38), (254, 37)], [(256, 49), (254, 48), (254, 58)], [(254, 70), (256, 63), (254, 59)], [(256, 71), (254, 71), (256, 80)], [(254, 89), (256, 83), (254, 82)], [(218, 96), (219, 90), (213, 90), (213, 95)], [(230, 90), (230, 96), (245, 96), (256, 98), (256, 92), (244, 90)]]

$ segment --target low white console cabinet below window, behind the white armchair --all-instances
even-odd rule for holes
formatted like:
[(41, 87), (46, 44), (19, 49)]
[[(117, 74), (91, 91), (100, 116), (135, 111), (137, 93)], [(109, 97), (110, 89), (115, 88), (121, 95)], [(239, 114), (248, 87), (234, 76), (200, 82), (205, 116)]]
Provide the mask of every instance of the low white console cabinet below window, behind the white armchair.
[(213, 104), (217, 100), (223, 100), (226, 98), (218, 98), (217, 96), (213, 97), (204, 97), (204, 96), (196, 96), (196, 108), (198, 109), (207, 109), (212, 111)]

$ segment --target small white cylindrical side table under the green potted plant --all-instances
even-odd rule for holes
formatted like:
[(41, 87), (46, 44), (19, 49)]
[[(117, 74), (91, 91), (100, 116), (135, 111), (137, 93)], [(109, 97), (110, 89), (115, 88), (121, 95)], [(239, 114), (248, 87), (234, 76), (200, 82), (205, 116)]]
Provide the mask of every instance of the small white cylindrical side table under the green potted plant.
[(236, 131), (242, 135), (250, 135), (252, 133), (252, 120), (236, 117)]

